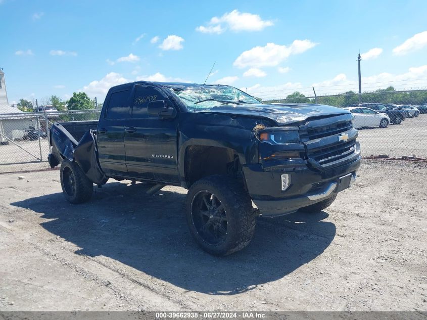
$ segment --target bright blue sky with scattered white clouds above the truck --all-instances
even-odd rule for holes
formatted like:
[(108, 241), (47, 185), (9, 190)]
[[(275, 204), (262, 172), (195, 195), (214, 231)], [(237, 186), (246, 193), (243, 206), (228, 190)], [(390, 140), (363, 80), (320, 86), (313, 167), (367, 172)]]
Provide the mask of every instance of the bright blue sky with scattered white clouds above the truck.
[(359, 50), (364, 90), (425, 87), (426, 12), (425, 1), (0, 0), (0, 67), (10, 103), (203, 83), (215, 61), (207, 83), (262, 98), (356, 91)]

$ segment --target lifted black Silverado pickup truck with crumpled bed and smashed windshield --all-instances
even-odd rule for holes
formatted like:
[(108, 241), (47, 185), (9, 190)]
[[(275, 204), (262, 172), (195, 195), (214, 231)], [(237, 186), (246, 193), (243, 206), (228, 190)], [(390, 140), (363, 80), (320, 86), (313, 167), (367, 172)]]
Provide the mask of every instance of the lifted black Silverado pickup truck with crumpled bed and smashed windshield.
[[(188, 189), (186, 220), (207, 252), (251, 241), (255, 218), (318, 212), (356, 179), (357, 130), (350, 112), (314, 104), (261, 104), (226, 85), (139, 81), (112, 87), (100, 120), (56, 122), (49, 163), (61, 164), (71, 203), (109, 178)], [(256, 208), (254, 208), (255, 204)]]

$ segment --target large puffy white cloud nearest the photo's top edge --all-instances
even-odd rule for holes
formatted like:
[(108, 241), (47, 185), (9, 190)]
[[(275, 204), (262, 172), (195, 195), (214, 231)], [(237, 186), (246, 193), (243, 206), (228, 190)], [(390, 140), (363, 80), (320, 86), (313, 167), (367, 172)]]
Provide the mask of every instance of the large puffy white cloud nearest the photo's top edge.
[(272, 25), (273, 22), (271, 20), (262, 20), (259, 15), (233, 10), (223, 14), (219, 18), (213, 17), (207, 26), (199, 26), (196, 30), (202, 33), (220, 34), (227, 29), (234, 32), (260, 31)]

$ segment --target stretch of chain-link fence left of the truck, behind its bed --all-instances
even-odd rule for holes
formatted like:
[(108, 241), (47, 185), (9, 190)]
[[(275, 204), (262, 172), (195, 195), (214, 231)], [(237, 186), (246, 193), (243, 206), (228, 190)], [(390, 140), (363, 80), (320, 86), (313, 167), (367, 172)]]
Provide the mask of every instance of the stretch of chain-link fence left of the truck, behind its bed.
[(55, 121), (98, 120), (101, 110), (0, 114), (0, 173), (49, 168), (49, 128)]

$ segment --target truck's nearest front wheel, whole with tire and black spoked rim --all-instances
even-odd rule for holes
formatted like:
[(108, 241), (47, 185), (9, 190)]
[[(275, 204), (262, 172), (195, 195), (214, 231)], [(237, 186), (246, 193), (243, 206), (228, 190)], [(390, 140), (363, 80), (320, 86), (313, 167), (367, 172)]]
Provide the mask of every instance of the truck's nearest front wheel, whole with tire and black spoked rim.
[(206, 252), (225, 256), (252, 240), (255, 216), (251, 198), (238, 181), (212, 175), (188, 190), (186, 220), (196, 242)]

